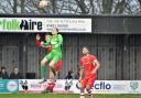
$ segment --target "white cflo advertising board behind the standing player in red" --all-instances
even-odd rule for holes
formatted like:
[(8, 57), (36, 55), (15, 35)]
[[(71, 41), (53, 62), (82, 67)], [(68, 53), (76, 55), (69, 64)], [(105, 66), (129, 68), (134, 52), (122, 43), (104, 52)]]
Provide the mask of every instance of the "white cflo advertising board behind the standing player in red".
[[(79, 85), (74, 80), (72, 86), (75, 94), (79, 92)], [(141, 80), (96, 80), (93, 94), (141, 94)]]

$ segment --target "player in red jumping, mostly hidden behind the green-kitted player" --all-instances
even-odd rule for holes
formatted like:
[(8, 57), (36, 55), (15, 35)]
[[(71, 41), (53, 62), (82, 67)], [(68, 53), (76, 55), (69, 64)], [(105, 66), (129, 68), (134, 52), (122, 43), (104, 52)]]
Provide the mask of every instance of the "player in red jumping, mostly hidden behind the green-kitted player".
[[(48, 35), (47, 34), (45, 34), (45, 40), (47, 41), (48, 40)], [(36, 35), (36, 46), (39, 46), (39, 47), (44, 47), (43, 45), (43, 42), (41, 41), (41, 36), (40, 36), (40, 34), (37, 34)], [(47, 47), (44, 47), (45, 50), (46, 50), (46, 53), (48, 54), (51, 51), (52, 51), (52, 47), (51, 47), (51, 45), (50, 46), (47, 46)], [(58, 72), (61, 72), (61, 67), (62, 67), (62, 59), (59, 59), (56, 64), (55, 64), (55, 69), (56, 69), (56, 74), (58, 73)], [(46, 76), (45, 76), (45, 74), (46, 74), (46, 69), (45, 69), (45, 73), (44, 73), (44, 77), (43, 78), (46, 78)], [(50, 79), (51, 79), (51, 81), (53, 80), (53, 72), (52, 72), (52, 68), (50, 67)]]

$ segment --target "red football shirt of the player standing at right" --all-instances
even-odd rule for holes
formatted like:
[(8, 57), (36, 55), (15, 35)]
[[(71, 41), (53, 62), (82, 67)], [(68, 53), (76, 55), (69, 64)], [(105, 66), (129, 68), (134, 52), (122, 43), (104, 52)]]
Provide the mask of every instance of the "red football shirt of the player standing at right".
[(80, 58), (80, 66), (84, 67), (84, 73), (85, 73), (85, 76), (89, 76), (91, 75), (91, 70), (95, 69), (95, 65), (93, 64), (93, 62), (97, 59), (96, 56), (91, 55), (91, 54), (88, 54), (87, 56), (83, 56)]

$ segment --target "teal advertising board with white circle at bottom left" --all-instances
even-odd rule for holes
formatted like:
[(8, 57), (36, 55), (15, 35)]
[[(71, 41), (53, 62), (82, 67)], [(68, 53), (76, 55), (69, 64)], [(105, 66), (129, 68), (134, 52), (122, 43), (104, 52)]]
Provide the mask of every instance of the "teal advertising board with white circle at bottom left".
[(0, 79), (0, 92), (18, 92), (18, 79)]

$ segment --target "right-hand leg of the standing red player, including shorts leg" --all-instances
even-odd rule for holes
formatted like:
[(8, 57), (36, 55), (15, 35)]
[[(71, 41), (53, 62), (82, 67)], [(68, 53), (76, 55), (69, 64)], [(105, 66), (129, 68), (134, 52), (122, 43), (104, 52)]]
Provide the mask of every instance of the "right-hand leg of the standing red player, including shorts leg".
[(95, 80), (96, 80), (96, 77), (94, 76), (88, 78), (86, 90), (88, 92), (89, 98), (93, 98), (91, 87), (94, 86)]

